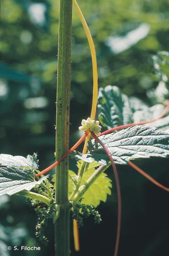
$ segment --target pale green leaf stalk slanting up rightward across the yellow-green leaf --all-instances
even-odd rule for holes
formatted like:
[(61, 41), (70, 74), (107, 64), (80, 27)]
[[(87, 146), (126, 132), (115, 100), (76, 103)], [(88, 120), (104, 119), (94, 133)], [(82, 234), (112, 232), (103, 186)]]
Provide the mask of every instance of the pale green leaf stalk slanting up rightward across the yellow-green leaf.
[(88, 178), (88, 180), (85, 182), (85, 184), (83, 184), (78, 192), (76, 193), (76, 195), (71, 199), (72, 201), (79, 201), (84, 193), (87, 191), (87, 189), (93, 184), (93, 182), (98, 179), (98, 177), (105, 172), (105, 170), (111, 165), (111, 163), (109, 163), (108, 165), (102, 165), (100, 166), (98, 169), (95, 170), (95, 172), (90, 176), (90, 178)]

